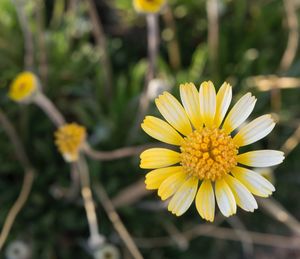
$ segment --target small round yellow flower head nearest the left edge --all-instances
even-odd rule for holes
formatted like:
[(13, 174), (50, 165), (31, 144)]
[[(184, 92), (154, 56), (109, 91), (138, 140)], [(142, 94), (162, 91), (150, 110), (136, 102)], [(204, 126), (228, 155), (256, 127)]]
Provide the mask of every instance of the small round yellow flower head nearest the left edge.
[(16, 102), (28, 102), (37, 92), (38, 85), (38, 79), (33, 73), (20, 73), (10, 85), (8, 96)]

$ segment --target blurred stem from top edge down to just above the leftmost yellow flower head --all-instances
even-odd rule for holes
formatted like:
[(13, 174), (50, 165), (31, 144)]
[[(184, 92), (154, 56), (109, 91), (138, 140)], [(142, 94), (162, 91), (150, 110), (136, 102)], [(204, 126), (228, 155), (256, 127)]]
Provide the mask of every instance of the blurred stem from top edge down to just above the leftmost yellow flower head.
[(27, 70), (33, 69), (34, 57), (33, 57), (33, 40), (32, 33), (29, 29), (28, 20), (25, 14), (25, 0), (12, 0), (19, 19), (20, 28), (24, 37), (24, 66)]

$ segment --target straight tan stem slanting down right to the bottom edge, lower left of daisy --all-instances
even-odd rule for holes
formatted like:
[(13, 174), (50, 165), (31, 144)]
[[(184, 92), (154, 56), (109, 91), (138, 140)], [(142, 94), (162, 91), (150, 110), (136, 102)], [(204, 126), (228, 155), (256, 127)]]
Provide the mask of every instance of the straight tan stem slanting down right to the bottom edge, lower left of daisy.
[(106, 211), (106, 214), (108, 215), (109, 219), (111, 220), (114, 228), (119, 233), (120, 237), (122, 238), (124, 244), (128, 248), (129, 252), (135, 259), (142, 259), (143, 256), (141, 252), (138, 250), (136, 244), (134, 243), (132, 237), (130, 236), (128, 230), (126, 229), (125, 225), (121, 221), (116, 209), (114, 208), (113, 203), (109, 199), (104, 187), (98, 183), (94, 186), (94, 190), (96, 192), (96, 195), (98, 196), (98, 199), (100, 200), (101, 204), (103, 205), (103, 208)]

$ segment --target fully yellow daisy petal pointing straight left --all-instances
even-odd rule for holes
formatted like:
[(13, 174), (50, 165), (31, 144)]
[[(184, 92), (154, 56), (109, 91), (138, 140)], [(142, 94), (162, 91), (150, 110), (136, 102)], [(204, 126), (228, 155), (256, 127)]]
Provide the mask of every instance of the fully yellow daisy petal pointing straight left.
[(153, 169), (170, 166), (180, 161), (180, 154), (166, 148), (150, 148), (141, 155), (141, 168)]

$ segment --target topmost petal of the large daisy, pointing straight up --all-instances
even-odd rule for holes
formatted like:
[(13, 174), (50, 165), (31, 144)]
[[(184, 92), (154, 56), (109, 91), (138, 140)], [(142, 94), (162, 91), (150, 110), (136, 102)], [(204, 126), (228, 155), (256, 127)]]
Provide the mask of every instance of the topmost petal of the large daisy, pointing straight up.
[(211, 81), (201, 84), (199, 100), (202, 121), (206, 126), (211, 127), (216, 114), (216, 89)]

